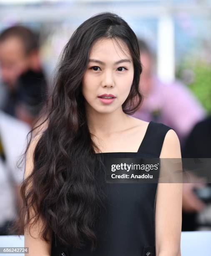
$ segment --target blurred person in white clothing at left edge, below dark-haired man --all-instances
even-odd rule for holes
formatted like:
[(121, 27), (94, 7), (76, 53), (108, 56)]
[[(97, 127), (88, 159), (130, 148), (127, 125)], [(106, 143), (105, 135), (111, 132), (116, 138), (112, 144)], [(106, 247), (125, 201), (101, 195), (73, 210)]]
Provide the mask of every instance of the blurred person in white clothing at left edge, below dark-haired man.
[(8, 235), (20, 206), (20, 183), (24, 170), (18, 169), (30, 128), (24, 122), (0, 111), (0, 235)]

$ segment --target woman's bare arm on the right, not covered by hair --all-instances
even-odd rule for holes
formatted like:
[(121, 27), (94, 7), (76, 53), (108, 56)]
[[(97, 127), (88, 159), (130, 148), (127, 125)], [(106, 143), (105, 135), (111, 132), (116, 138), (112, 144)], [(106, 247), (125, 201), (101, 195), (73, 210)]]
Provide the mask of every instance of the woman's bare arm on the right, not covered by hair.
[[(179, 139), (172, 129), (166, 133), (160, 158), (161, 162), (163, 158), (181, 159)], [(167, 171), (173, 172), (173, 169)], [(158, 183), (155, 215), (156, 256), (181, 256), (182, 187), (182, 182)]]

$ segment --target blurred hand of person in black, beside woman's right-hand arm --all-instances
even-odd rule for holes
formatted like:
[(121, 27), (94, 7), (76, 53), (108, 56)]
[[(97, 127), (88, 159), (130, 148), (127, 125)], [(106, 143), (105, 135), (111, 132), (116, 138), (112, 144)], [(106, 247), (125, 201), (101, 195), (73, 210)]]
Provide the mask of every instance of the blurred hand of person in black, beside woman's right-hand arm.
[(193, 192), (194, 188), (206, 187), (204, 179), (193, 174), (188, 174), (191, 183), (183, 184), (182, 208), (185, 212), (199, 212), (205, 207), (205, 203), (201, 201)]

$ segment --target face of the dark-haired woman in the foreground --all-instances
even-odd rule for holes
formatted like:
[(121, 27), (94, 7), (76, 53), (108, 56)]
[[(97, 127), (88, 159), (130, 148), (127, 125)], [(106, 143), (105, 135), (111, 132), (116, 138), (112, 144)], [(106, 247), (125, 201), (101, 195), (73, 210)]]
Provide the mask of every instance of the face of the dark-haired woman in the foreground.
[[(87, 110), (111, 113), (121, 108), (133, 82), (133, 59), (126, 44), (100, 39), (90, 50), (89, 63), (82, 81)], [(102, 95), (111, 96), (111, 99)]]

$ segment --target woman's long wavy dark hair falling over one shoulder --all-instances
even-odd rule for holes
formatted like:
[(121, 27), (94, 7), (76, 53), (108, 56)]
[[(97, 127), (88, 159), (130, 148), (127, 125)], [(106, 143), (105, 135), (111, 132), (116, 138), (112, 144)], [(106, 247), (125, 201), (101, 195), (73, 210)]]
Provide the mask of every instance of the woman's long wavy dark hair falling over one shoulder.
[[(142, 71), (138, 40), (128, 23), (114, 13), (104, 12), (85, 20), (63, 49), (54, 77), (50, 108), (44, 120), (30, 131), (25, 155), (35, 131), (44, 123), (33, 151), (33, 170), (23, 180), (23, 207), (14, 230), (18, 235), (39, 218), (44, 222), (40, 237), (48, 240), (52, 230), (61, 243), (81, 248), (89, 241), (97, 245), (94, 224), (103, 209), (103, 192), (95, 172), (103, 169), (102, 155), (92, 140), (85, 115), (82, 79), (90, 49), (101, 38), (121, 40), (133, 59), (134, 76), (123, 112), (133, 114), (141, 105), (139, 79)], [(33, 209), (33, 216), (30, 215)]]

